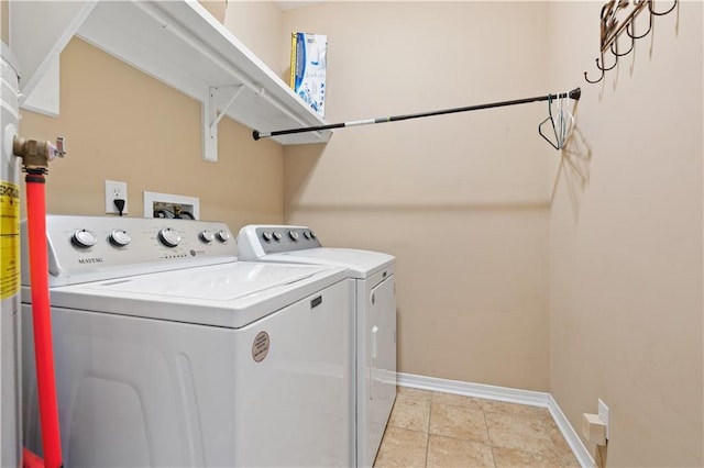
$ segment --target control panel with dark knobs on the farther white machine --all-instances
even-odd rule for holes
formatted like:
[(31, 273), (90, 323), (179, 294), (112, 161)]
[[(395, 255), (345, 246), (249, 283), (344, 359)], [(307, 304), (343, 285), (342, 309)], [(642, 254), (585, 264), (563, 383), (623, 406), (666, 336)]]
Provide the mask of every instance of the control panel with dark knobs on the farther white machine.
[(306, 226), (251, 224), (240, 230), (238, 245), (243, 258), (322, 247), (315, 231)]

